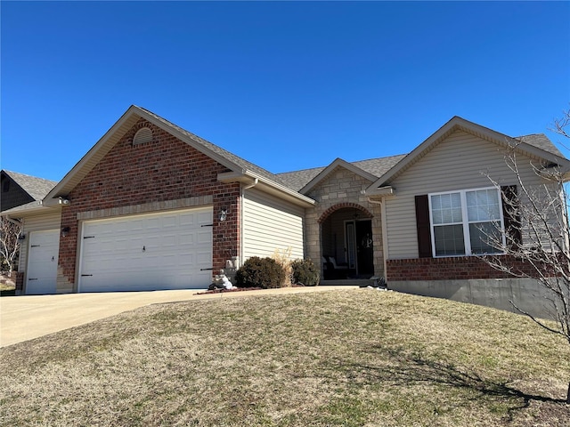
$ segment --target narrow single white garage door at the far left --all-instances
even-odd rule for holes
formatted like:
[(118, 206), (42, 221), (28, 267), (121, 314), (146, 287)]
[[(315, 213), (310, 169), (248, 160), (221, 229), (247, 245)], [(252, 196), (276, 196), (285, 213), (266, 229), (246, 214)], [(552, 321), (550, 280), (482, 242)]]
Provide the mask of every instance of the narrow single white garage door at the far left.
[(59, 230), (29, 233), (26, 294), (55, 294), (59, 252)]

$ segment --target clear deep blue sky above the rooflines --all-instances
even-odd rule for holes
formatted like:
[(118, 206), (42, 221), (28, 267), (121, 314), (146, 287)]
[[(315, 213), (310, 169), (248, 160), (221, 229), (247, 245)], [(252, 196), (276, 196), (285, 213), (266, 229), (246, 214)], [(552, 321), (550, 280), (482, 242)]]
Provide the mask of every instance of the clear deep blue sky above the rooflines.
[(569, 2), (0, 8), (1, 162), (20, 173), (61, 180), (131, 104), (273, 173), (407, 153), (456, 115), (564, 142)]

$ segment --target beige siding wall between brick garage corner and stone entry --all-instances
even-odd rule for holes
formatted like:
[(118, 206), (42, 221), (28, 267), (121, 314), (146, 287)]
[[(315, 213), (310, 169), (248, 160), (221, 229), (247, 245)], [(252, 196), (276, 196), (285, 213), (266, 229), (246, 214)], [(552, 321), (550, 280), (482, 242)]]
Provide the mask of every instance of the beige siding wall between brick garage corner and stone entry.
[(243, 197), (243, 259), (272, 256), (291, 249), (291, 259), (303, 258), (305, 209), (259, 190)]

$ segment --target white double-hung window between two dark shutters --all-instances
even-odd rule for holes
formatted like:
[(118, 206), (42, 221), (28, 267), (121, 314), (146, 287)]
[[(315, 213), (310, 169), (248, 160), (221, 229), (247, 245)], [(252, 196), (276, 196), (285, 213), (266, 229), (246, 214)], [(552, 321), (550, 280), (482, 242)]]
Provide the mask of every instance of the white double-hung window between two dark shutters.
[(498, 254), (504, 243), (499, 189), (468, 189), (429, 195), (433, 254)]

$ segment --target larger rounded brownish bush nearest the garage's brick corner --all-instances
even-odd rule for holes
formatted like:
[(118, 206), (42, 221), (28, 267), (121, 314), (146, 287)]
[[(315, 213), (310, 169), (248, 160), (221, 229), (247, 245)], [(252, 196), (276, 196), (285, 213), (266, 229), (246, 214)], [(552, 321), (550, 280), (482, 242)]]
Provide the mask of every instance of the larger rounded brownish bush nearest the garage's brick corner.
[(235, 279), (238, 287), (269, 289), (281, 287), (285, 281), (285, 271), (273, 258), (252, 256), (236, 271)]

